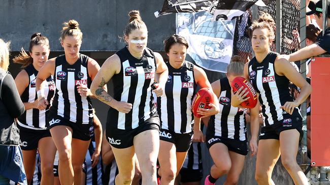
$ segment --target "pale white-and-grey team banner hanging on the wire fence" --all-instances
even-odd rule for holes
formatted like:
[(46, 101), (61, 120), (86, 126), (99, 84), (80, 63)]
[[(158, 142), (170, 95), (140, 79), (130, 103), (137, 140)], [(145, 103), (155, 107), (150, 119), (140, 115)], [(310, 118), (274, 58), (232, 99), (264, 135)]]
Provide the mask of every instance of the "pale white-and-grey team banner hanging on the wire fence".
[(213, 21), (207, 12), (176, 15), (177, 34), (188, 41), (187, 54), (205, 69), (226, 72), (233, 54), (236, 20)]

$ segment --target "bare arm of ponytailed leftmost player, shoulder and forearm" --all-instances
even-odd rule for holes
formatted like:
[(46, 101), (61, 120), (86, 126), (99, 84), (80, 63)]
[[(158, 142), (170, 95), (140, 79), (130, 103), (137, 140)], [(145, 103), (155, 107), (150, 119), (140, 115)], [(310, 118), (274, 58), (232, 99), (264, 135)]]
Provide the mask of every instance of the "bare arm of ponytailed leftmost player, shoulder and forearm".
[[(24, 90), (29, 85), (29, 76), (25, 70), (22, 70), (18, 73), (18, 75), (15, 78), (15, 84), (16, 84), (19, 96), (22, 96)], [(38, 100), (35, 100), (34, 102), (23, 102), (23, 105), (24, 105), (25, 110), (37, 109)]]

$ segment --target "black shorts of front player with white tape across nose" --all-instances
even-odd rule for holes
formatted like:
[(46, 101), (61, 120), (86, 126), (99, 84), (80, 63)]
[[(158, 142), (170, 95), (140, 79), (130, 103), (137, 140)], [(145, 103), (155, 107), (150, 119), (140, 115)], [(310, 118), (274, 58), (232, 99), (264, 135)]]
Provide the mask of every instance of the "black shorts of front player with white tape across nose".
[(159, 130), (158, 115), (147, 119), (143, 124), (131, 130), (123, 130), (107, 125), (106, 136), (110, 145), (117, 149), (125, 149), (134, 145), (136, 135), (146, 130)]

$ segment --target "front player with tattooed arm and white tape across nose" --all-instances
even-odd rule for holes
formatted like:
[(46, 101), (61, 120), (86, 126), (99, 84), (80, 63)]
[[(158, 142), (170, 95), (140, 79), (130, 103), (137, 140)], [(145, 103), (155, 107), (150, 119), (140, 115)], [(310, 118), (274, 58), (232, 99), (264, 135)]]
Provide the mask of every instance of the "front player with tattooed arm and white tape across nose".
[[(119, 169), (115, 183), (131, 183), (137, 157), (142, 184), (156, 184), (159, 118), (152, 91), (157, 97), (163, 94), (168, 68), (160, 54), (146, 48), (148, 30), (140, 12), (134, 10), (128, 15), (123, 35), (127, 45), (104, 62), (91, 91), (110, 106), (106, 136)], [(102, 88), (110, 79), (113, 97)]]

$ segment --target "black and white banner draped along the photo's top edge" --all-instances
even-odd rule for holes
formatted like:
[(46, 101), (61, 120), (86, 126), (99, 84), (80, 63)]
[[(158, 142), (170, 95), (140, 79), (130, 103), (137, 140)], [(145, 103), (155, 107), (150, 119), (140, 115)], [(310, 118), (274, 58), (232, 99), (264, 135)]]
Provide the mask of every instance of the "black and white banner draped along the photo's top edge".
[[(269, 0), (263, 0), (268, 2)], [(164, 0), (161, 10), (155, 12), (155, 16), (167, 15), (171, 13), (196, 13), (206, 11), (209, 14), (214, 14), (216, 9), (218, 16), (217, 19), (231, 20), (235, 16), (240, 16), (241, 11), (245, 12), (253, 4), (258, 6), (266, 6), (261, 0)], [(232, 10), (232, 11), (228, 11)], [(216, 19), (216, 16), (215, 18)]]

